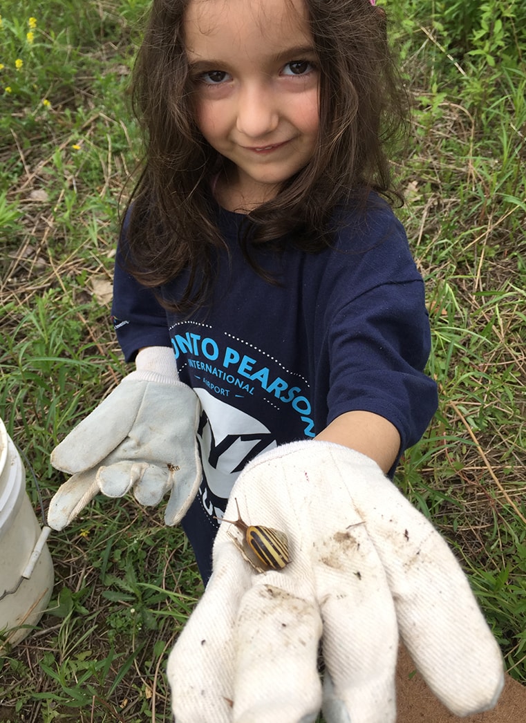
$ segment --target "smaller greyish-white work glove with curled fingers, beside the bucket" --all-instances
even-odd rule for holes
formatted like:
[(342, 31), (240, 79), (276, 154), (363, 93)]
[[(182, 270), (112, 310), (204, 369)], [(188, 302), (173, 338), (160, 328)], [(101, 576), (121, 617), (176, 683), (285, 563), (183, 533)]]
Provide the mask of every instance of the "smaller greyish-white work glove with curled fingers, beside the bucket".
[(168, 347), (139, 351), (129, 374), (51, 453), (51, 464), (71, 474), (48, 510), (48, 525), (64, 529), (93, 497), (122, 497), (133, 489), (142, 505), (158, 505), (171, 491), (165, 523), (188, 510), (201, 482), (196, 432), (199, 399), (178, 380)]

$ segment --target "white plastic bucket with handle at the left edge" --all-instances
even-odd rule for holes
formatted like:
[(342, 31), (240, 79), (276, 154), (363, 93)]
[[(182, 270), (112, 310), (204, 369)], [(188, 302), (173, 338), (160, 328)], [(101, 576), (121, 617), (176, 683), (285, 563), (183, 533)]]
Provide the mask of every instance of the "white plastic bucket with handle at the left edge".
[(20, 643), (47, 607), (53, 591), (49, 531), (40, 530), (24, 466), (0, 419), (0, 653), (6, 643)]

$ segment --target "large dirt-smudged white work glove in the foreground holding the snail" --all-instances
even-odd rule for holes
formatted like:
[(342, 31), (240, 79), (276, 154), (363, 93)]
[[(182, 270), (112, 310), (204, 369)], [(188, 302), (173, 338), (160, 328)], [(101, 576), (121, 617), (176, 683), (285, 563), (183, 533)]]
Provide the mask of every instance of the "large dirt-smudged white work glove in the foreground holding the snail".
[[(225, 520), (284, 531), (256, 573), (222, 523), (213, 573), (168, 660), (177, 723), (390, 723), (398, 633), (454, 714), (491, 708), (499, 646), (446, 542), (358, 452), (293, 442), (243, 470)], [(326, 667), (316, 669), (319, 641)]]

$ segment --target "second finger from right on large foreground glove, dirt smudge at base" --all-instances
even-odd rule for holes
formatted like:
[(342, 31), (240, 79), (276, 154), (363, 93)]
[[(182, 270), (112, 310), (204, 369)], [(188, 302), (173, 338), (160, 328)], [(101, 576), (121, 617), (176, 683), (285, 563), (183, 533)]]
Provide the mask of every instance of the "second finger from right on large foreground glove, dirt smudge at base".
[(323, 618), (327, 723), (396, 718), (397, 619), (387, 576), (363, 524), (327, 539), (316, 564)]

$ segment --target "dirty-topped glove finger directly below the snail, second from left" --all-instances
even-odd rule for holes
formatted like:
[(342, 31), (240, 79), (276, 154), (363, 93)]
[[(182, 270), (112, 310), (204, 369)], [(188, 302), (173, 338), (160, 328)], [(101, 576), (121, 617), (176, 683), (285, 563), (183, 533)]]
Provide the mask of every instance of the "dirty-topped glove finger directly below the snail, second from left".
[(322, 620), (312, 586), (289, 568), (253, 581), (235, 630), (233, 721), (312, 722), (322, 702), (316, 669)]

